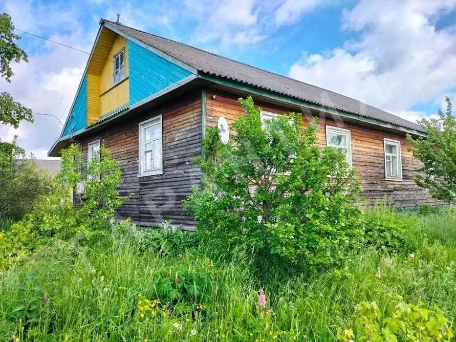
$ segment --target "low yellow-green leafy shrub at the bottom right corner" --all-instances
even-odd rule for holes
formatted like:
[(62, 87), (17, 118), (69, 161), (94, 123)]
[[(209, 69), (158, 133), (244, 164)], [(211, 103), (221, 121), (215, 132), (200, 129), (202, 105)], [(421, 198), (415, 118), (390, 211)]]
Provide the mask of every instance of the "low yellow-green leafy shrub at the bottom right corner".
[(337, 329), (339, 341), (452, 341), (450, 321), (434, 305), (428, 310), (421, 303), (400, 301), (388, 317), (376, 302), (361, 302), (351, 329)]

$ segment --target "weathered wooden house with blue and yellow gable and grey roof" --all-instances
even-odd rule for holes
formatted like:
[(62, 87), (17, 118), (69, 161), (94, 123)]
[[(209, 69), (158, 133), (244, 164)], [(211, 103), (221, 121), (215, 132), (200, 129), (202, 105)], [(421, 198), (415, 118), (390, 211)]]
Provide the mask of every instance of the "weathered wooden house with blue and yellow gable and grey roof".
[[(239, 63), (186, 44), (102, 19), (61, 136), (49, 151), (71, 142), (91, 158), (103, 141), (122, 167), (119, 214), (140, 225), (172, 219), (192, 227), (182, 200), (201, 184), (192, 158), (202, 153), (205, 128), (242, 114), (239, 97), (251, 95), (262, 117), (290, 111), (304, 122), (320, 118), (319, 142), (347, 151), (363, 195), (388, 196), (398, 207), (435, 204), (413, 182), (418, 164), (407, 133), (423, 128), (332, 91)], [(75, 196), (78, 200), (78, 196)]]

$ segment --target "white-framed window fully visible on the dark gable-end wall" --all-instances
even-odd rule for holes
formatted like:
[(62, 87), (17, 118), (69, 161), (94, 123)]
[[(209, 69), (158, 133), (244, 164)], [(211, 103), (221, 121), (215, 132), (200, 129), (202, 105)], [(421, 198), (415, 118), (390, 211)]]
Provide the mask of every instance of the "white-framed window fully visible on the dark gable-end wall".
[(163, 173), (162, 117), (139, 124), (139, 175)]

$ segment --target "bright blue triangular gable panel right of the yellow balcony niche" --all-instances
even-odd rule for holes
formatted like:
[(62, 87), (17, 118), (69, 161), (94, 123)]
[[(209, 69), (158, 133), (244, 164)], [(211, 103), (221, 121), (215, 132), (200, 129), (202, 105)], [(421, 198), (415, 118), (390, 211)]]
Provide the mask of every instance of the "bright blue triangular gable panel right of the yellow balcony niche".
[(192, 73), (141, 45), (128, 41), (130, 105), (183, 80)]

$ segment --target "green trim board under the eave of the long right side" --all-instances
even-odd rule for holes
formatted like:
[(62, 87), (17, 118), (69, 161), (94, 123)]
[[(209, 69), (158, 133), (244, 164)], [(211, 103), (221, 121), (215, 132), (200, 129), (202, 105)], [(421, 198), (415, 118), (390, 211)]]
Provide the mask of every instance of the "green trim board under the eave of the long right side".
[(393, 124), (390, 124), (390, 123), (387, 123), (384, 121), (380, 121), (377, 119), (369, 118), (367, 116), (363, 116), (360, 114), (354, 114), (354, 113), (344, 112), (344, 111), (333, 109), (333, 108), (318, 106), (316, 104), (313, 104), (313, 103), (310, 103), (310, 102), (307, 102), (304, 100), (299, 100), (299, 99), (292, 98), (290, 96), (277, 94), (277, 93), (267, 91), (267, 90), (264, 90), (264, 89), (261, 89), (261, 88), (255, 87), (255, 86), (245, 85), (240, 82), (223, 79), (223, 78), (219, 78), (219, 77), (215, 77), (215, 76), (209, 76), (209, 75), (205, 75), (205, 74), (199, 74), (198, 77), (203, 80), (216, 83), (218, 85), (223, 85), (223, 86), (227, 86), (230, 88), (235, 88), (235, 89), (238, 89), (241, 91), (245, 91), (248, 93), (256, 94), (258, 96), (267, 97), (267, 98), (282, 102), (284, 104), (306, 107), (309, 109), (318, 110), (318, 111), (328, 113), (331, 115), (336, 115), (336, 116), (344, 117), (347, 119), (352, 119), (352, 120), (368, 123), (371, 125), (380, 126), (383, 128), (399, 130), (399, 131), (402, 131), (405, 133), (410, 133), (413, 135), (418, 135), (418, 136), (423, 136), (423, 137), (427, 136), (426, 133), (417, 131), (415, 129), (410, 129), (410, 128), (405, 128), (405, 127), (401, 127), (398, 125), (393, 125)]

